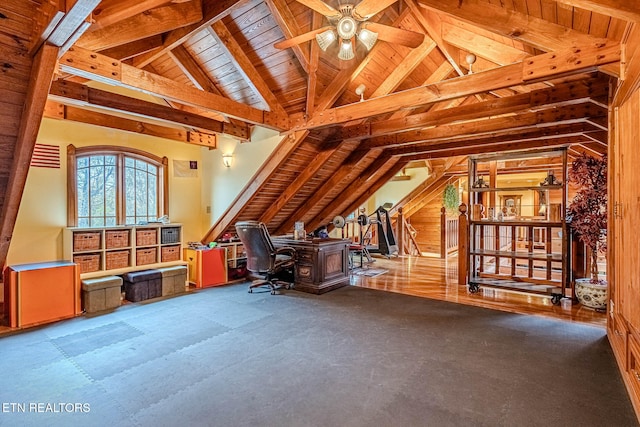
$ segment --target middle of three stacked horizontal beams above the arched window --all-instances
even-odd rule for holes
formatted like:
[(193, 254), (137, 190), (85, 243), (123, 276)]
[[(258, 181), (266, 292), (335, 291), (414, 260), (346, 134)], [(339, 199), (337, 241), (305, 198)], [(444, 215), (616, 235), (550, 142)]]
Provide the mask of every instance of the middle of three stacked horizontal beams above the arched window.
[(227, 128), (226, 123), (208, 117), (91, 88), (79, 83), (58, 80), (51, 85), (49, 94), (50, 99), (66, 105), (93, 107), (109, 111), (112, 115), (114, 113), (128, 114), (146, 121), (199, 128), (215, 133), (225, 133), (240, 139), (249, 139), (249, 127), (246, 125), (243, 129), (238, 126)]

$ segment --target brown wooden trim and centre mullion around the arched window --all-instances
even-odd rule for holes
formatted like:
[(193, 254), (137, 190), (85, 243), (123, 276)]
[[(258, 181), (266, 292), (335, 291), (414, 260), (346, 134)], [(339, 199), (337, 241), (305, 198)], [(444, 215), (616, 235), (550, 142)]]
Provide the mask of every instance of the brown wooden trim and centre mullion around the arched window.
[(78, 226), (78, 182), (77, 182), (77, 158), (88, 155), (115, 155), (117, 165), (117, 200), (116, 222), (124, 225), (124, 157), (133, 157), (149, 162), (158, 167), (158, 206), (159, 216), (169, 215), (169, 159), (159, 157), (136, 148), (118, 147), (111, 145), (91, 145), (87, 147), (75, 147), (67, 145), (67, 226)]

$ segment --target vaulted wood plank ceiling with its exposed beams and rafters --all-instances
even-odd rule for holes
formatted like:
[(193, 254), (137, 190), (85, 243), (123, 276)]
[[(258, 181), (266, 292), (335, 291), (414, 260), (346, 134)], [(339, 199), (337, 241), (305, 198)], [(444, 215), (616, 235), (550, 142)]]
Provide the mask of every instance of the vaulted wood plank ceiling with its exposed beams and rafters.
[[(620, 78), (621, 44), (640, 21), (636, 2), (363, 0), (376, 12), (388, 4), (368, 19), (371, 28), (410, 30), (421, 42), (406, 47), (384, 32), (367, 51), (354, 38), (351, 60), (337, 58), (337, 43), (325, 52), (315, 39), (274, 47), (329, 25), (309, 7), (320, 3), (3, 1), (0, 109), (12, 120), (0, 125), (0, 260), (17, 213), (10, 201), (19, 202), (26, 179), (12, 159), (30, 157), (27, 123), (42, 114), (210, 147), (219, 134), (246, 140), (255, 125), (282, 132), (278, 151), (204, 241), (243, 219), (274, 233), (296, 220), (313, 228), (357, 208), (415, 160), (441, 174), (454, 156), (550, 146), (606, 152), (608, 96)], [(45, 56), (34, 71), (47, 48), (57, 67)], [(52, 82), (44, 113), (38, 73)]]

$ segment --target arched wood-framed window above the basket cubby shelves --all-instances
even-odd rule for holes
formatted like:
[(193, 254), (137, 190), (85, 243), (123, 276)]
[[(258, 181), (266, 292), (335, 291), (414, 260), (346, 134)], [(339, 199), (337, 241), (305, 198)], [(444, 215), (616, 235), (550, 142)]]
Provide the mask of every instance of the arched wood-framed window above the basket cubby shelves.
[(168, 214), (167, 158), (125, 147), (67, 147), (68, 225), (109, 227)]

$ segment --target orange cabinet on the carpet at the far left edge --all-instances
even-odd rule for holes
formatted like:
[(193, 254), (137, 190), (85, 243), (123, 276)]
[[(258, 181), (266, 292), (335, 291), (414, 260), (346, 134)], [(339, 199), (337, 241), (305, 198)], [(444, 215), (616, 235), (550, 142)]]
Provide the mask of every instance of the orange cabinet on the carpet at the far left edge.
[(4, 311), (12, 328), (74, 317), (80, 306), (80, 270), (69, 261), (13, 265), (4, 270)]

